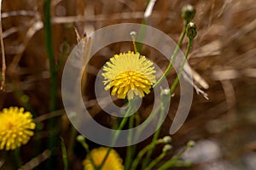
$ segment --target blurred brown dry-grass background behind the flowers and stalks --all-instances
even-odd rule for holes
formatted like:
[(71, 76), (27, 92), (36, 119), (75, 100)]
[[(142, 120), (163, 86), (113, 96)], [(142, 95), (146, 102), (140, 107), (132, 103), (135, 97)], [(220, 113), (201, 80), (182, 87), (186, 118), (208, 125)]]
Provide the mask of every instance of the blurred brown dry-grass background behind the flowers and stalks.
[[(86, 153), (71, 140), (77, 133), (68, 121), (61, 102), (61, 72), (68, 54), (77, 44), (74, 27), (81, 36), (84, 32), (90, 33), (117, 23), (142, 23), (147, 3), (142, 0), (51, 1), (51, 43), (57, 68), (56, 103), (53, 107), (49, 93), (51, 73), (47, 53), (49, 42), (45, 39), (45, 3), (42, 0), (2, 2), (7, 71), (5, 91), (0, 92), (0, 108), (12, 105), (25, 107), (37, 122), (35, 135), (20, 149), (24, 163), (35, 158), (38, 161), (35, 169), (44, 169), (47, 162), (53, 159), (52, 168), (61, 169), (59, 140), (56, 139), (53, 150), (47, 149), (50, 147), (49, 136), (54, 133), (71, 146), (67, 148), (70, 151), (70, 169), (82, 169)], [(189, 118), (172, 135), (174, 152), (193, 139), (195, 147), (183, 156), (183, 159), (195, 162), (190, 169), (253, 170), (256, 167), (256, 3), (254, 0), (158, 0), (147, 25), (164, 31), (177, 42), (183, 28), (181, 9), (188, 3), (195, 6), (193, 21), (198, 27), (189, 64), (195, 71), (195, 77), (199, 77), (198, 86), (202, 85), (209, 99), (195, 93)], [(185, 48), (186, 41), (182, 45), (183, 51)], [(96, 106), (91, 83), (109, 57), (129, 49), (132, 49), (130, 42), (102, 48), (84, 72), (84, 102), (99, 122), (103, 118), (98, 114), (101, 111)], [(168, 62), (160, 58), (156, 50), (143, 46), (142, 54), (165, 71)], [(173, 71), (168, 77), (170, 83), (174, 78)], [(203, 80), (206, 83), (202, 83)], [(173, 111), (170, 111), (161, 129), (161, 136), (168, 134), (178, 99), (177, 94), (172, 102)], [(146, 100), (149, 106), (152, 105), (150, 101)], [(102, 123), (108, 126), (111, 122)], [(90, 145), (97, 146), (92, 142)], [(122, 148), (117, 150), (119, 153), (125, 151)], [(0, 151), (1, 169), (15, 169), (12, 161), (11, 153)]]

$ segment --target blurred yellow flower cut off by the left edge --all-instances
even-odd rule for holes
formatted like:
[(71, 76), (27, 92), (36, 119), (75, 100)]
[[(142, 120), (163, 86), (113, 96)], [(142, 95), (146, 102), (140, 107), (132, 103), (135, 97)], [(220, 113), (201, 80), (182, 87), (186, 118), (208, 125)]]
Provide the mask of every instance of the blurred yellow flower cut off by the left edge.
[(23, 108), (9, 107), (0, 112), (0, 150), (15, 150), (26, 144), (35, 129), (32, 114)]

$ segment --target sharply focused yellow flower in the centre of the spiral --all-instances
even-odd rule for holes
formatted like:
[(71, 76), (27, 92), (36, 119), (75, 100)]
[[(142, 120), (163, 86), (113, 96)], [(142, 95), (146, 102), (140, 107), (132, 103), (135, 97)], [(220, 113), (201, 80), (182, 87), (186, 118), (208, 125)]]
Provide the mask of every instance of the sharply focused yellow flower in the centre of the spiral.
[(155, 83), (154, 65), (138, 53), (115, 54), (103, 67), (105, 90), (112, 88), (111, 94), (118, 94), (119, 99), (133, 99), (134, 94), (140, 98), (149, 94)]

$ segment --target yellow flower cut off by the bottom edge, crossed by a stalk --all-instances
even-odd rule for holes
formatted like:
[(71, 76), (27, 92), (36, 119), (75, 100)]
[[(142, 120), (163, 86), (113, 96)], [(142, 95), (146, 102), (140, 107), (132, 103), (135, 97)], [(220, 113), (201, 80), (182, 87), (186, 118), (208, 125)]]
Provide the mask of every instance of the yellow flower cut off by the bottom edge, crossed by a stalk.
[[(104, 157), (108, 152), (108, 148), (100, 147), (94, 150), (91, 150), (90, 156), (94, 161), (95, 165), (98, 167), (102, 164)], [(87, 156), (83, 161), (84, 170), (95, 170), (90, 157)], [(107, 160), (105, 161), (102, 170), (123, 170), (124, 166), (122, 165), (122, 159), (119, 157), (119, 154), (115, 150), (111, 150)]]

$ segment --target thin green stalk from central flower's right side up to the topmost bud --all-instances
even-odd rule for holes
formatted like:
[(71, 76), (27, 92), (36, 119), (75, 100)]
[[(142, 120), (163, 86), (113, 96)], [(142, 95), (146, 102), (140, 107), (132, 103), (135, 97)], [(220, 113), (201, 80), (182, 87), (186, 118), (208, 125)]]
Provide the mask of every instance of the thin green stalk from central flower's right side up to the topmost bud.
[(183, 25), (183, 31), (182, 31), (182, 34), (181, 36), (179, 37), (179, 40), (177, 42), (177, 46), (176, 48), (174, 49), (174, 52), (172, 54), (172, 59), (165, 71), (165, 73), (160, 77), (160, 79), (153, 85), (153, 88), (156, 88), (157, 86), (160, 85), (160, 82), (162, 82), (164, 80), (164, 78), (169, 74), (169, 72), (172, 70), (172, 65), (176, 59), (176, 56), (177, 56), (177, 52), (178, 52), (178, 49), (181, 47), (181, 44), (183, 42), (183, 38), (185, 37), (186, 35), (186, 28), (188, 26), (188, 21), (184, 21), (184, 25)]

